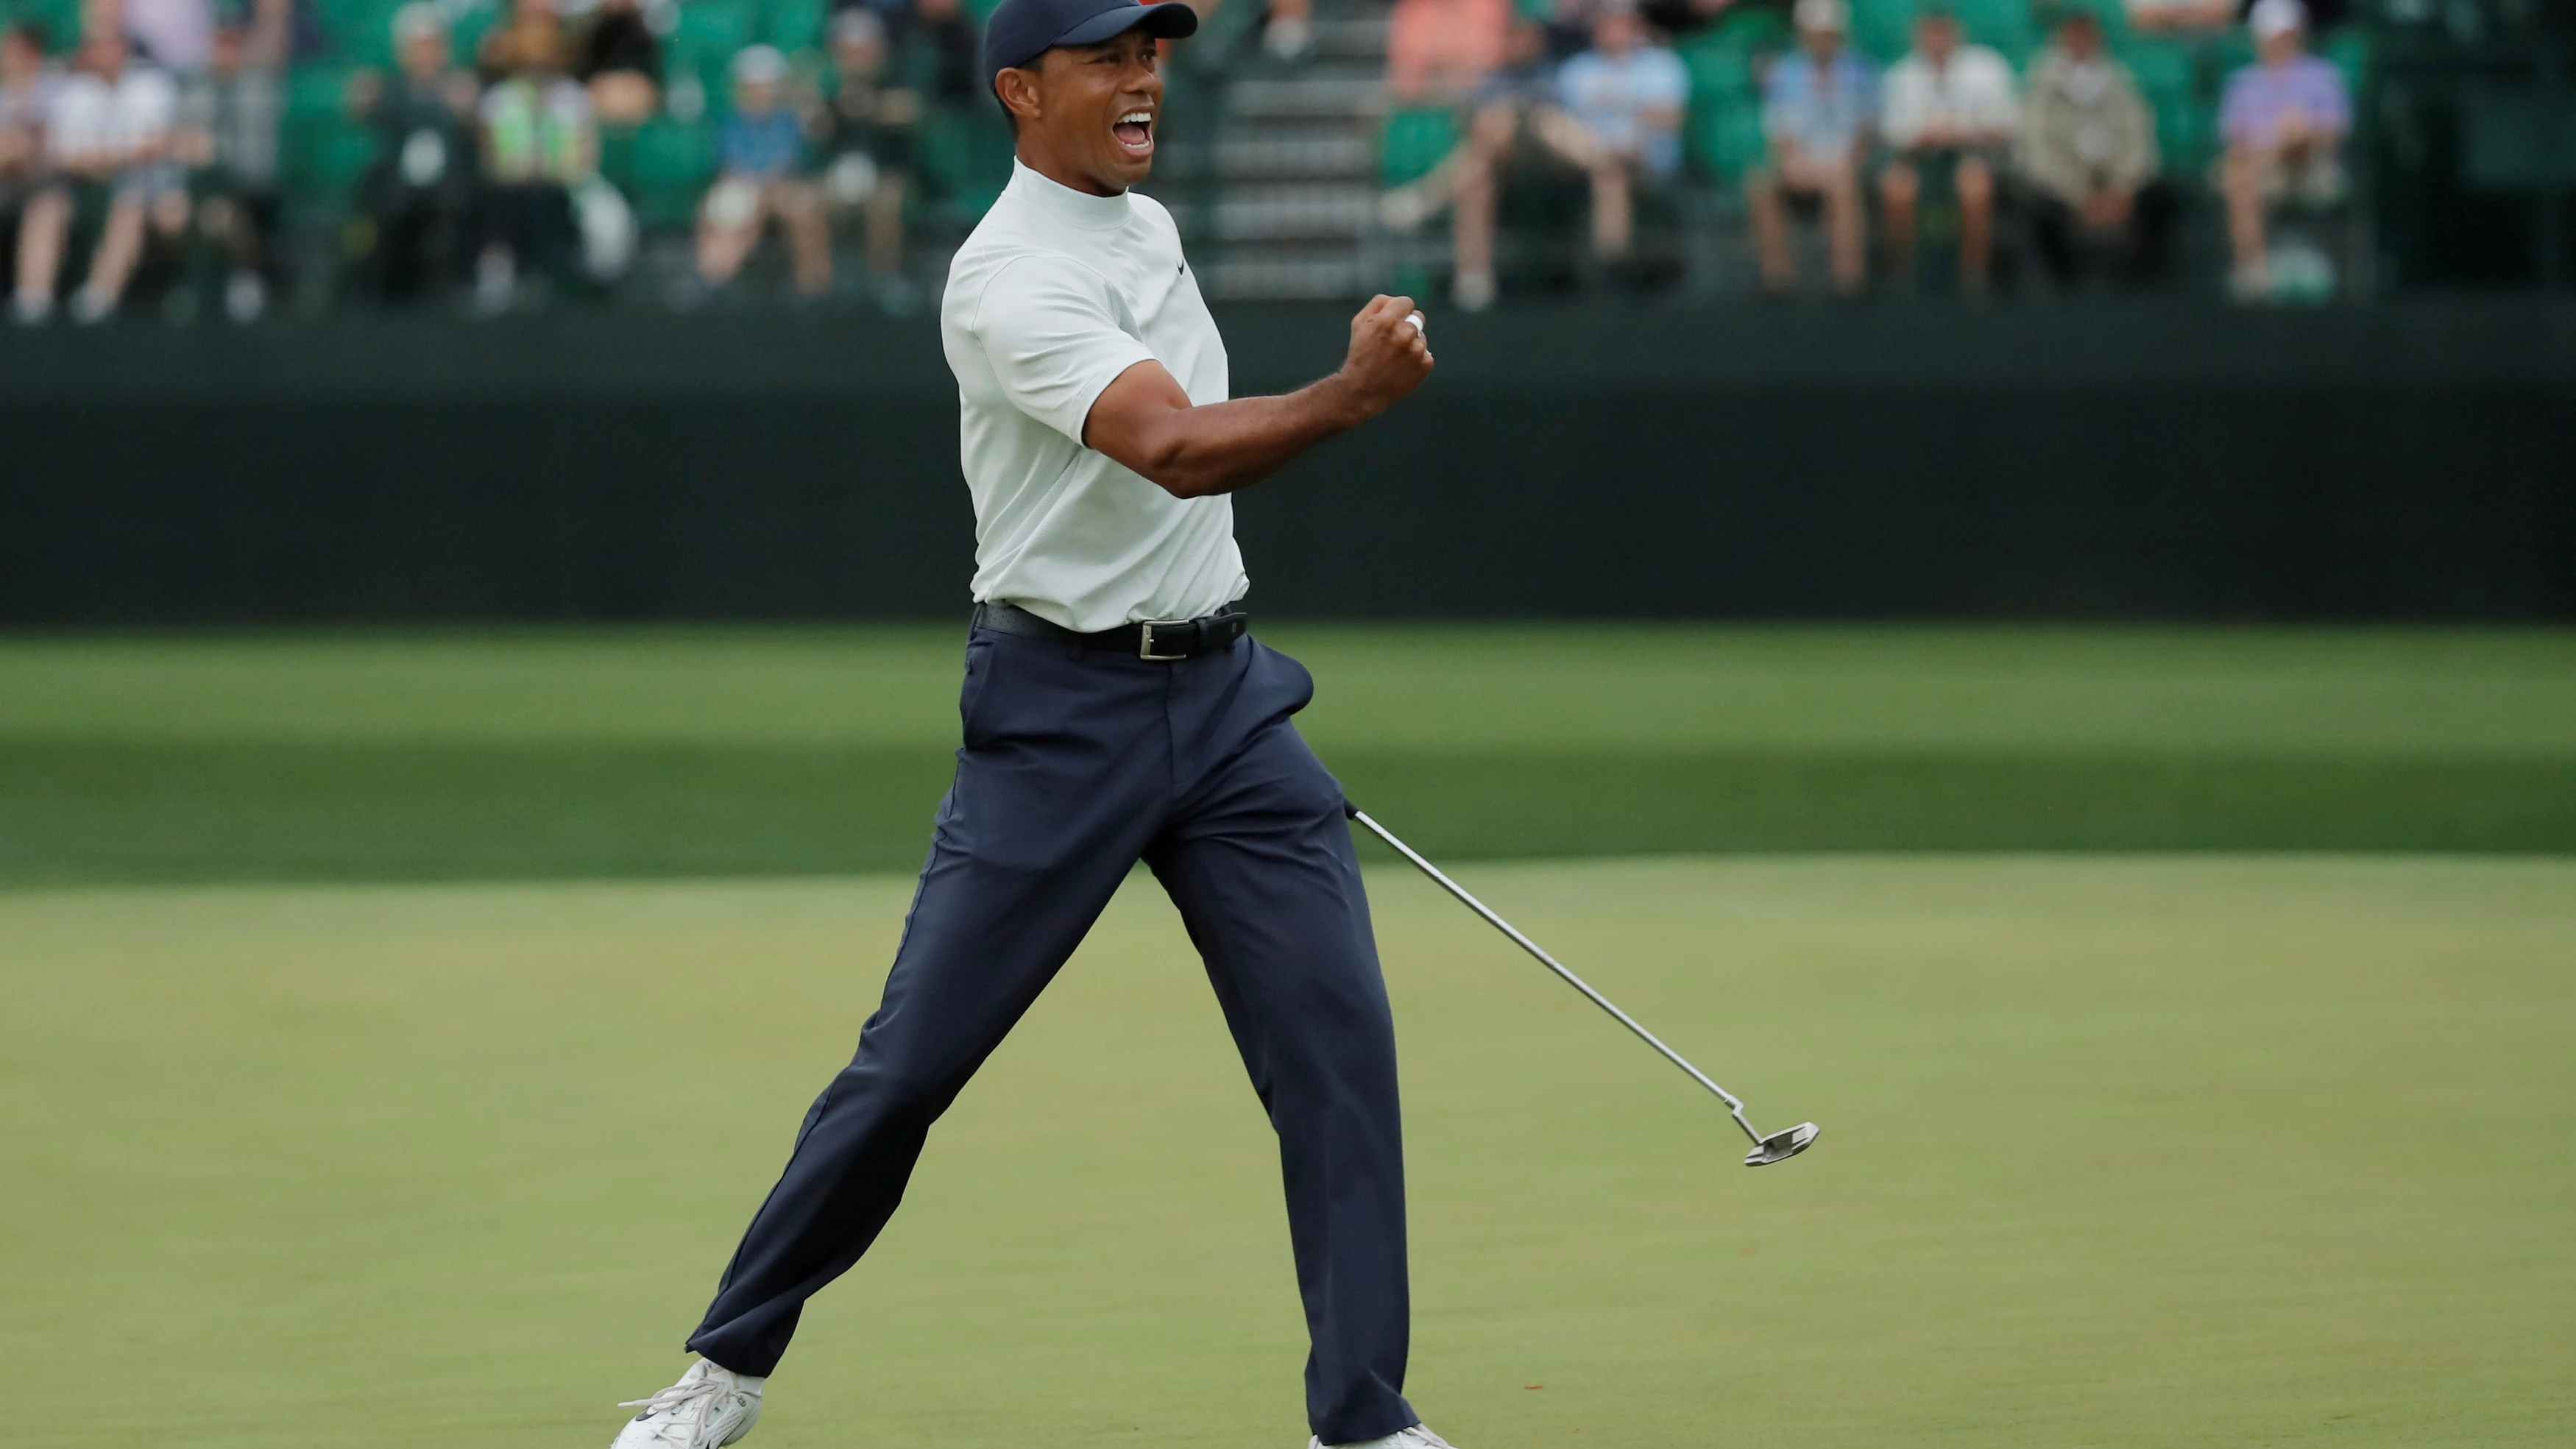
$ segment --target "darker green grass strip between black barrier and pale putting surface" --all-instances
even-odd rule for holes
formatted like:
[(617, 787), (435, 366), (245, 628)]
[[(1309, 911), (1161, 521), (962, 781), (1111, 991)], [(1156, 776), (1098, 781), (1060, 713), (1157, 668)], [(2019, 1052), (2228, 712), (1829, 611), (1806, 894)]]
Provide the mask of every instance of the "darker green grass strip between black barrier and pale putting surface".
[[(2576, 852), (2576, 633), (1283, 628), (1448, 857)], [(0, 641), (0, 883), (917, 865), (961, 633)]]

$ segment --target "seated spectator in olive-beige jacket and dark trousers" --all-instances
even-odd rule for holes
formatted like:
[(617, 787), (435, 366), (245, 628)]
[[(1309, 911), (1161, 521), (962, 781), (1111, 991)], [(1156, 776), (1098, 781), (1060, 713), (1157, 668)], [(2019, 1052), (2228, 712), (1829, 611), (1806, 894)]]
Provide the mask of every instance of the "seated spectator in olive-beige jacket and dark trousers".
[(2056, 44), (2030, 64), (2014, 165), (2030, 190), (2032, 242), (2058, 286), (2092, 263), (2130, 283), (2166, 273), (2177, 201), (2156, 175), (2156, 116), (2105, 51), (2092, 10), (2069, 10)]

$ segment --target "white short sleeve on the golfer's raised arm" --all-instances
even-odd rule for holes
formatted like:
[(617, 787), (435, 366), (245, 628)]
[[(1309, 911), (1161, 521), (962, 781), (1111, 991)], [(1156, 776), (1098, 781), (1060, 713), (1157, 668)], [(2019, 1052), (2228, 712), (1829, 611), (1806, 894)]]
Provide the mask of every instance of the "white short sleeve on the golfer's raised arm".
[(1154, 358), (1118, 327), (1100, 273), (1043, 252), (1015, 257), (984, 283), (971, 332), (1002, 396), (1074, 443), (1118, 373)]

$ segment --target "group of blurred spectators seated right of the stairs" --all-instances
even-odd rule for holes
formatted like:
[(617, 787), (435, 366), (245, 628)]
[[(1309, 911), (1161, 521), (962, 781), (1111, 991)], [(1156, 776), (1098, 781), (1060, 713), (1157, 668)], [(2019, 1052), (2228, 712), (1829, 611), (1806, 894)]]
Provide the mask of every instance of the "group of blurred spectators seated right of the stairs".
[[(1909, 46), (1883, 69), (1852, 44), (1844, 0), (1795, 0), (1788, 44), (1757, 59), (1759, 144), (1731, 167), (1762, 286), (1798, 291), (1793, 242), (1806, 216), (1821, 232), (1832, 291), (1852, 296), (1873, 278), (1911, 286), (1929, 198), (1940, 198), (1965, 293), (1989, 291), (2007, 211), (2058, 286), (2094, 273), (2156, 283), (2172, 275), (2174, 226), (2195, 190), (2223, 203), (2239, 299), (2313, 286), (2272, 275), (2267, 219), (2282, 203), (2342, 203), (2347, 77), (2308, 51), (2303, 0), (2251, 0), (2241, 15), (2236, 5), (2130, 0), (2117, 15), (2133, 36), (2251, 36), (2254, 54), (2218, 106), (2215, 165), (2190, 175), (2192, 157), (2161, 154), (2159, 116), (2094, 8), (2043, 10), (2048, 44), (2017, 75), (1999, 49), (1968, 39), (1947, 0), (1911, 10)], [(1553, 0), (1543, 13), (1510, 0), (1396, 0), (1388, 93), (1399, 106), (1455, 108), (1461, 139), (1427, 175), (1386, 190), (1386, 224), (1412, 232), (1448, 211), (1453, 299), (1481, 309), (1497, 296), (1497, 178), (1512, 165), (1571, 167), (1589, 183), (1592, 260), (1623, 265), (1636, 196), (1685, 175), (1698, 67), (1677, 46), (1747, 15), (1770, 10), (1759, 0)], [(1721, 39), (1703, 54), (1739, 51)]]

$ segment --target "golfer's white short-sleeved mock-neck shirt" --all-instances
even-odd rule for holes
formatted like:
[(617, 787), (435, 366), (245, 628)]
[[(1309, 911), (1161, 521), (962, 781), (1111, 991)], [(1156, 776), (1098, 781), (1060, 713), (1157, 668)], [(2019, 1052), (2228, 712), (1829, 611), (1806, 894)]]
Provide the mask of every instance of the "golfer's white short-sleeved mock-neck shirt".
[(1095, 633), (1244, 595), (1231, 499), (1177, 499), (1082, 445), (1100, 391), (1149, 358), (1193, 404), (1226, 399), (1226, 342), (1162, 203), (1012, 162), (948, 263), (940, 342), (958, 376), (976, 602)]

